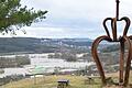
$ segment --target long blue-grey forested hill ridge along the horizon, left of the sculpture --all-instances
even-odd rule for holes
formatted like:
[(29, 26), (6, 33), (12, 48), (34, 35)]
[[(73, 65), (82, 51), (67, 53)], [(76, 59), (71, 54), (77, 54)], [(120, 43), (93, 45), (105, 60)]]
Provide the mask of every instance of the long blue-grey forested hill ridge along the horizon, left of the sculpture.
[(0, 53), (53, 53), (64, 47), (91, 46), (89, 38), (0, 37)]

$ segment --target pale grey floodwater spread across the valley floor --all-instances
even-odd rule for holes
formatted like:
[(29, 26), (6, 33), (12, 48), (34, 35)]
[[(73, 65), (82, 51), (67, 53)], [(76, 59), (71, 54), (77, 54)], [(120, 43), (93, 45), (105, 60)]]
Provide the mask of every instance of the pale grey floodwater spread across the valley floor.
[(48, 54), (31, 54), (29, 57), (31, 59), (30, 65), (25, 65), (23, 68), (4, 68), (4, 74), (0, 74), (0, 77), (30, 74), (29, 70), (35, 67), (43, 67), (48, 69), (47, 72), (54, 72), (55, 67), (81, 69), (95, 64), (94, 62), (66, 62), (61, 58), (48, 58)]

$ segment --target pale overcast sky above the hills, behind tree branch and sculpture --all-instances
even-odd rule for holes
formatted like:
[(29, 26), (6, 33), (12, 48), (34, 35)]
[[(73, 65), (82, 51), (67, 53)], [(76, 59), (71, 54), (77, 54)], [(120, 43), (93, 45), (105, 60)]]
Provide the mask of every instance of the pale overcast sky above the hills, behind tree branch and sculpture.
[[(33, 37), (89, 37), (106, 34), (102, 21), (114, 18), (116, 0), (21, 0), (22, 4), (35, 10), (47, 10), (46, 19), (22, 28)], [(120, 0), (120, 18), (132, 18), (132, 0)], [(123, 24), (123, 23), (122, 23)], [(121, 23), (119, 23), (121, 26)], [(130, 29), (131, 30), (131, 29)], [(121, 29), (118, 29), (119, 35)], [(131, 34), (132, 32), (129, 31)], [(10, 35), (9, 35), (10, 36)]]

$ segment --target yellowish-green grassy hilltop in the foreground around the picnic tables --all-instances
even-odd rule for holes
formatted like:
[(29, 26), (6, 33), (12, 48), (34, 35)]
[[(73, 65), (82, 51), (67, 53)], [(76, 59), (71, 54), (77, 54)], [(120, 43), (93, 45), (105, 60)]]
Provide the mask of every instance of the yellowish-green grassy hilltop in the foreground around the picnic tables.
[[(112, 77), (114, 81), (118, 81), (118, 74), (109, 74), (107, 75)], [(100, 78), (94, 78), (94, 81), (89, 84), (86, 81), (86, 76), (44, 76), (34, 78), (26, 78), (19, 81), (11, 81), (8, 85), (4, 85), (0, 88), (57, 88), (58, 79), (69, 79), (69, 86), (67, 88), (102, 88)], [(130, 84), (132, 84), (132, 73), (130, 77)], [(106, 87), (105, 87), (106, 88)], [(107, 87), (109, 88), (109, 87)], [(110, 88), (118, 88), (112, 86)], [(131, 88), (131, 87), (128, 87)]]

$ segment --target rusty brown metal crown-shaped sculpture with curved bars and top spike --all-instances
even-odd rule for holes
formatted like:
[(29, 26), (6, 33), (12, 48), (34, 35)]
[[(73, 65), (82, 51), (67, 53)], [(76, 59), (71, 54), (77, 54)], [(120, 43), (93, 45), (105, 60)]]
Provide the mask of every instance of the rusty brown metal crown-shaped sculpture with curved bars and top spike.
[[(92, 54), (92, 57), (97, 64), (97, 68), (99, 70), (99, 75), (101, 76), (102, 84), (106, 85), (107, 84), (106, 76), (105, 76), (105, 72), (103, 72), (101, 62), (100, 62), (99, 56), (98, 56), (97, 47), (101, 41), (119, 42), (120, 48), (121, 48), (120, 50), (119, 85), (120, 86), (128, 86), (129, 76), (130, 76), (130, 67), (131, 67), (131, 58), (132, 58), (132, 55), (131, 55), (132, 54), (132, 45), (131, 45), (131, 41), (130, 41), (130, 40), (132, 40), (132, 36), (127, 36), (127, 33), (128, 33), (128, 30), (130, 28), (131, 21), (127, 16), (119, 19), (119, 3), (120, 3), (120, 1), (117, 0), (116, 2), (117, 2), (116, 18), (107, 18), (103, 20), (103, 26), (105, 26), (107, 35), (99, 36), (94, 41), (92, 47), (91, 47), (91, 54)], [(112, 37), (110, 36), (109, 30), (107, 28), (108, 21), (111, 21)], [(117, 35), (117, 22), (118, 21), (125, 22), (123, 35), (120, 37), (118, 37), (118, 35)], [(125, 42), (129, 46), (129, 48), (128, 48), (129, 53), (128, 53), (128, 57), (127, 57), (127, 63), (124, 64), (124, 43)], [(124, 69), (124, 65), (125, 65), (125, 69)]]

